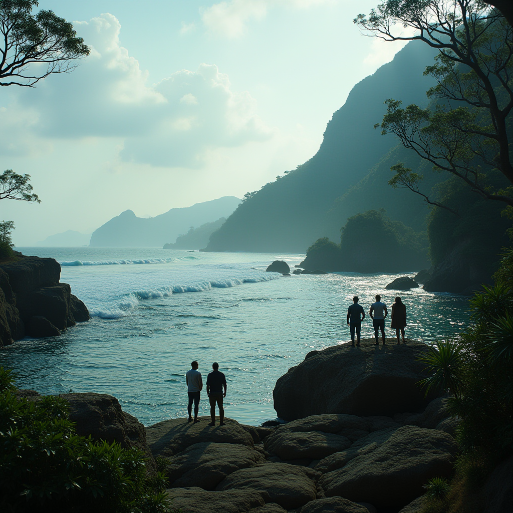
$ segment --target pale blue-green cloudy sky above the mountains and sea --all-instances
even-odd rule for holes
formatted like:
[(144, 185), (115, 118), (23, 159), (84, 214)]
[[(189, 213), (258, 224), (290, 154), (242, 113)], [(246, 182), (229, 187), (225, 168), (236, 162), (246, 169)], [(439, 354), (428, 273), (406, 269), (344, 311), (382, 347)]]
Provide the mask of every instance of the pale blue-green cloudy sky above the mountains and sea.
[(0, 89), (0, 167), (41, 204), (4, 200), (13, 240), (91, 233), (131, 209), (249, 191), (319, 149), (352, 87), (403, 44), (352, 20), (377, 0), (41, 0), (90, 55), (34, 88)]

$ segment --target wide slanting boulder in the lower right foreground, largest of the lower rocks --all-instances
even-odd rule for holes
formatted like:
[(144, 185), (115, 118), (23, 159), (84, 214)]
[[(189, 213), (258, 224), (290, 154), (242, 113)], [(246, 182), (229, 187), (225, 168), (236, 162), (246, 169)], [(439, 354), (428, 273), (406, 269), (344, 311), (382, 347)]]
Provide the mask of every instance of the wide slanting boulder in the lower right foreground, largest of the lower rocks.
[(373, 450), (324, 474), (320, 483), (328, 497), (400, 509), (422, 495), (429, 479), (450, 476), (456, 450), (455, 440), (443, 431), (403, 426)]

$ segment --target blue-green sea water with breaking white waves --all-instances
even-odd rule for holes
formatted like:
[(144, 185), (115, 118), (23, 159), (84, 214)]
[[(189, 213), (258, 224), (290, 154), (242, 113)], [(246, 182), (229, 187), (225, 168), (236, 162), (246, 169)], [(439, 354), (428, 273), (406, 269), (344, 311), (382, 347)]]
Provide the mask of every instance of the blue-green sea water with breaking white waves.
[[(293, 269), (304, 255), (203, 253), (160, 248), (16, 248), (52, 257), (61, 281), (82, 299), (91, 320), (60, 337), (25, 338), (0, 350), (17, 385), (43, 394), (109, 393), (150, 425), (187, 415), (185, 373), (197, 360), (226, 374), (226, 416), (247, 424), (276, 418), (277, 379), (313, 349), (349, 340), (353, 295), (368, 312), (374, 295), (401, 295), (406, 336), (433, 342), (468, 322), (468, 299), (422, 288), (385, 290), (401, 274), (266, 272), (273, 260)], [(418, 269), (417, 269), (418, 270)], [(410, 271), (410, 272), (408, 272)], [(387, 336), (394, 336), (387, 322)], [(372, 337), (367, 315), (362, 337)], [(200, 415), (208, 415), (202, 392)]]

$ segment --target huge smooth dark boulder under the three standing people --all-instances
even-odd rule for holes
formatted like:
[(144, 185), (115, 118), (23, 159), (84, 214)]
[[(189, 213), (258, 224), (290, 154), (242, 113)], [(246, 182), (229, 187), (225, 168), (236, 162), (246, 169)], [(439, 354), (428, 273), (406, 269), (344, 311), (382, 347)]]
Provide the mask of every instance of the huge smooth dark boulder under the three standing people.
[(419, 358), (430, 348), (415, 342), (387, 346), (369, 342), (363, 340), (357, 351), (348, 344), (328, 347), (290, 368), (273, 391), (278, 417), (286, 421), (322, 413), (391, 417), (424, 409), (434, 395), (425, 398), (418, 386), (427, 377)]

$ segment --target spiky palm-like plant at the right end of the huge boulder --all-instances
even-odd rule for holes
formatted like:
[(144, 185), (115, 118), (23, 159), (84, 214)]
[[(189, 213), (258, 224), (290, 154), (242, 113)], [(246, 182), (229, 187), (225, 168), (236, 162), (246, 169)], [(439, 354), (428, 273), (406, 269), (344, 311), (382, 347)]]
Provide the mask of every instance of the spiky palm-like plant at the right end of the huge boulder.
[(464, 347), (459, 340), (438, 341), (430, 353), (420, 358), (427, 364), (424, 369), (429, 377), (419, 381), (426, 388), (426, 396), (432, 388), (449, 391), (458, 396), (463, 391), (463, 352)]

